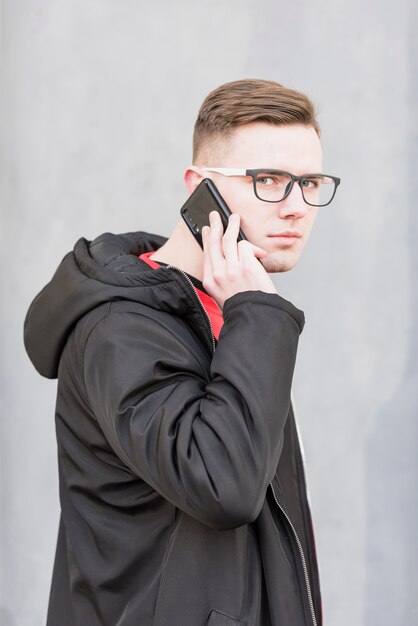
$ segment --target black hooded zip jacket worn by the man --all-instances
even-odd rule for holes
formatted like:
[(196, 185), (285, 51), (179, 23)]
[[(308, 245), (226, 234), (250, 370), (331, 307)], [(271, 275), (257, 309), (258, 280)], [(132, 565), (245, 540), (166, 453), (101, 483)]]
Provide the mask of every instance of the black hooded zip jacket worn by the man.
[(48, 626), (320, 624), (290, 403), (303, 314), (237, 294), (215, 346), (188, 277), (137, 258), (163, 241), (81, 239), (27, 314), (58, 377)]

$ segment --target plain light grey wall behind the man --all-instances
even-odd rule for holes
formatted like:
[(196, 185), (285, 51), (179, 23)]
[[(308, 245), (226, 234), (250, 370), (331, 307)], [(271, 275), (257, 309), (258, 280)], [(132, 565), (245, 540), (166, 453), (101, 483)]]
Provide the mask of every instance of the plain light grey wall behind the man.
[(294, 393), (326, 624), (418, 624), (412, 0), (3, 0), (2, 626), (45, 622), (58, 524), (55, 383), (22, 345), (80, 236), (169, 234), (206, 93), (271, 78), (319, 105), (343, 182), (278, 276), (304, 309)]

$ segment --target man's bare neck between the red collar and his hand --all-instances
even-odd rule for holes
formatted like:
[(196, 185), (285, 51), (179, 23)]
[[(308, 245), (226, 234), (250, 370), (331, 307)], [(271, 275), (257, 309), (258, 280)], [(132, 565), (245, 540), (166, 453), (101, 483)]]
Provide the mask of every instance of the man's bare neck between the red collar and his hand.
[(174, 265), (198, 280), (203, 278), (202, 249), (183, 220), (177, 223), (169, 239), (151, 255), (151, 259)]

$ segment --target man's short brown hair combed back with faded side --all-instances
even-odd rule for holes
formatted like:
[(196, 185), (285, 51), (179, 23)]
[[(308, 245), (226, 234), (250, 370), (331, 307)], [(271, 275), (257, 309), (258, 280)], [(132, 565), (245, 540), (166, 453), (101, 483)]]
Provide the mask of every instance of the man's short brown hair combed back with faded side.
[(194, 127), (193, 163), (204, 147), (213, 148), (216, 139), (252, 122), (302, 124), (320, 135), (315, 107), (305, 94), (272, 80), (237, 80), (217, 87), (204, 99)]

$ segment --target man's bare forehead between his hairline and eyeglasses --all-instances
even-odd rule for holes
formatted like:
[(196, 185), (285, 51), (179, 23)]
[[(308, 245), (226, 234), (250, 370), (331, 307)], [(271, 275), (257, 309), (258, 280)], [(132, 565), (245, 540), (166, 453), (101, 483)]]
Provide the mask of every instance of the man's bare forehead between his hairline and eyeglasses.
[(294, 174), (322, 169), (321, 142), (311, 126), (246, 124), (221, 141), (227, 144), (223, 167), (269, 167)]

